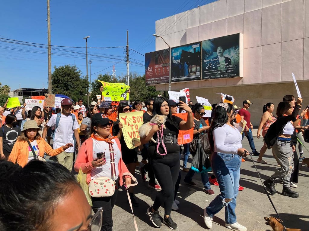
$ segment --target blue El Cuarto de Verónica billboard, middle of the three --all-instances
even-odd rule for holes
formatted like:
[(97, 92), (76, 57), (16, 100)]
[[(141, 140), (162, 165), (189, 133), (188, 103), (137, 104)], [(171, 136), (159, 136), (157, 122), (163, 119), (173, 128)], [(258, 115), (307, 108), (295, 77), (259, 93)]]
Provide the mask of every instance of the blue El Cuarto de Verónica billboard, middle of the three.
[(201, 79), (201, 42), (171, 48), (171, 82)]

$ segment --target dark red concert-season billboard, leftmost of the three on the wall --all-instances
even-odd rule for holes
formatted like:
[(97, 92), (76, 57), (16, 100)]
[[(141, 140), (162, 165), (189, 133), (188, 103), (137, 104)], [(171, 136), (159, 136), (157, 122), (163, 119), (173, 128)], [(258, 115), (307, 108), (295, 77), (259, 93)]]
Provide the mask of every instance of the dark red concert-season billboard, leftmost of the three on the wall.
[(169, 49), (145, 54), (146, 85), (169, 82)]

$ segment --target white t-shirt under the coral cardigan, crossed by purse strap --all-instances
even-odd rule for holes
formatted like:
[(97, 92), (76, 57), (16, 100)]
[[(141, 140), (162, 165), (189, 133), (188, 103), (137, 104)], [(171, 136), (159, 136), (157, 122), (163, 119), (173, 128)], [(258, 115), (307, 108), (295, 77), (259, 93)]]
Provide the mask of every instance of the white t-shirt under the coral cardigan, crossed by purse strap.
[[(109, 145), (107, 142), (105, 141), (99, 141), (99, 140), (95, 140), (92, 138), (93, 141), (93, 160), (96, 159), (96, 154), (97, 152), (105, 152), (105, 160), (106, 160), (106, 164), (102, 165), (101, 167), (97, 167), (97, 168), (92, 168), (91, 169), (91, 179), (95, 179), (98, 177), (110, 177), (111, 179), (113, 179), (112, 176), (112, 170), (111, 170), (111, 155), (109, 153)], [(115, 158), (115, 168), (116, 168), (116, 179), (118, 179), (119, 176), (119, 170), (118, 170), (118, 164), (119, 164), (119, 160), (121, 157), (121, 151), (118, 148), (118, 145), (116, 144), (116, 141), (113, 141), (114, 144), (113, 148), (114, 148), (114, 158)]]

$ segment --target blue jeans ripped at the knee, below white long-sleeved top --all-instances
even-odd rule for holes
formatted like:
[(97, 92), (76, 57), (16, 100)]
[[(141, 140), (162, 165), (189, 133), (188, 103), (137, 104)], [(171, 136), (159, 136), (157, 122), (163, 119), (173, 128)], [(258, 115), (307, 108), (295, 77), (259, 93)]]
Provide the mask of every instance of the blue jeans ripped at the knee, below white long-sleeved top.
[(237, 154), (215, 152), (211, 157), (211, 167), (220, 187), (220, 194), (206, 208), (208, 216), (213, 217), (223, 207), (225, 223), (237, 222), (235, 208), (239, 187), (241, 157)]

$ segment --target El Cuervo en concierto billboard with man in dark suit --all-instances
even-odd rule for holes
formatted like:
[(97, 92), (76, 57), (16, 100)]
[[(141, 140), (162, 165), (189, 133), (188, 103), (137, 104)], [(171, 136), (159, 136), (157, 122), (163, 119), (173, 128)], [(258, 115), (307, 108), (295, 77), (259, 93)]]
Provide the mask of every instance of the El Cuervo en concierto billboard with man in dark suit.
[(243, 77), (243, 34), (208, 39), (202, 44), (202, 79)]

